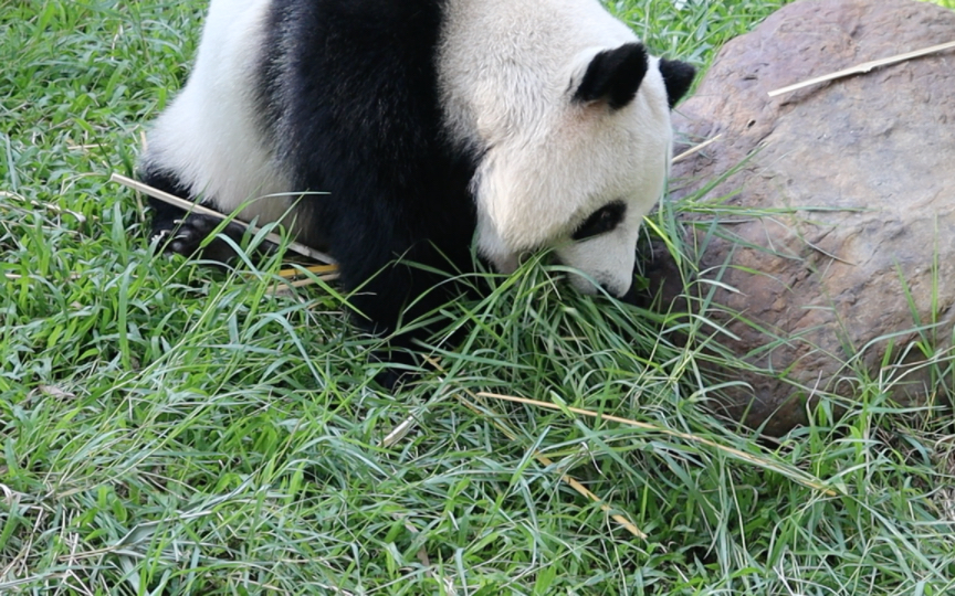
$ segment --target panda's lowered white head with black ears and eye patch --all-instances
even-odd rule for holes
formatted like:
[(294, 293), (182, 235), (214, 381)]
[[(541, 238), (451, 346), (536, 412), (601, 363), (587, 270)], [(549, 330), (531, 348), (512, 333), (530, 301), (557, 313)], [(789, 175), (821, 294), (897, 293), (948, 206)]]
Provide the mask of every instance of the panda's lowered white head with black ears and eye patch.
[(504, 106), (492, 107), (487, 93), (476, 110), (478, 247), (502, 273), (550, 248), (584, 274), (571, 277), (578, 289), (596, 292), (596, 283), (622, 296), (643, 215), (669, 172), (670, 109), (694, 70), (629, 42), (580, 51), (555, 73), (548, 81), (518, 72), (501, 85), (516, 98), (497, 95)]

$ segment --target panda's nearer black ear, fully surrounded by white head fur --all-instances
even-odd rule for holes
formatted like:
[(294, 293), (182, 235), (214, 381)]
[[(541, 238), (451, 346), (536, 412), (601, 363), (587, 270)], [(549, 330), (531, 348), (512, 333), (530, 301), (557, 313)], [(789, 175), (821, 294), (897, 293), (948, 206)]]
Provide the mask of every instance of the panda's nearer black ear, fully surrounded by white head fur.
[(647, 50), (643, 44), (627, 43), (600, 52), (587, 66), (587, 73), (574, 93), (574, 100), (600, 100), (612, 109), (620, 109), (633, 100), (646, 75)]

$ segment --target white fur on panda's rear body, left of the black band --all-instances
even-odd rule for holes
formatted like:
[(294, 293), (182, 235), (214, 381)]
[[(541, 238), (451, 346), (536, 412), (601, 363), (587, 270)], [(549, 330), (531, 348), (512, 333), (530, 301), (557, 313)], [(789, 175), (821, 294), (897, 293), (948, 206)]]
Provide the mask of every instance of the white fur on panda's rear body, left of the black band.
[[(156, 120), (146, 159), (176, 171), (193, 194), (231, 213), (291, 191), (254, 119), (250, 89), (270, 0), (213, 0), (189, 82)], [(243, 220), (276, 221), (292, 198), (250, 203)]]

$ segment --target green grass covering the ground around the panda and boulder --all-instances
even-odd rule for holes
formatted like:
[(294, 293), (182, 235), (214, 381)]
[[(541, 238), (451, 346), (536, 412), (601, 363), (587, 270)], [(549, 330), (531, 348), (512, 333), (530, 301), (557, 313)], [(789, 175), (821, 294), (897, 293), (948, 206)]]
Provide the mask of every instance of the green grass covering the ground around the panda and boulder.
[[(613, 8), (705, 65), (778, 4)], [(447, 305), (463, 347), (437, 337), (442, 372), (395, 396), (334, 287), (153, 258), (107, 178), (132, 173), (202, 10), (0, 0), (0, 592), (952, 593), (948, 414), (878, 380), (840, 421), (823, 398), (760, 440), (702, 407), (700, 320), (680, 349), (683, 319), (532, 262)]]

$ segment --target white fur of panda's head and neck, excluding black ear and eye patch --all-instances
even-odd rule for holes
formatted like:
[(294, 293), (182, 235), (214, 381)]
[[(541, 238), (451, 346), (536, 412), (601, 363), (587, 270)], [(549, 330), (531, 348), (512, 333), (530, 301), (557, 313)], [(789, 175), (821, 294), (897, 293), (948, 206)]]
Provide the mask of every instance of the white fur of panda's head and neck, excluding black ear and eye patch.
[[(512, 270), (521, 253), (558, 257), (623, 294), (642, 216), (663, 191), (671, 128), (651, 58), (632, 103), (571, 102), (590, 60), (637, 38), (597, 0), (450, 0), (439, 56), (442, 103), (454, 138), (486, 149), (472, 182), (481, 253)], [(573, 82), (573, 84), (571, 84)], [(625, 222), (574, 243), (594, 211), (622, 200)], [(574, 278), (595, 291), (585, 278)]]

